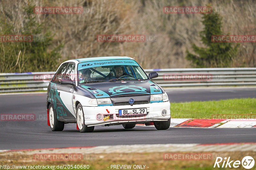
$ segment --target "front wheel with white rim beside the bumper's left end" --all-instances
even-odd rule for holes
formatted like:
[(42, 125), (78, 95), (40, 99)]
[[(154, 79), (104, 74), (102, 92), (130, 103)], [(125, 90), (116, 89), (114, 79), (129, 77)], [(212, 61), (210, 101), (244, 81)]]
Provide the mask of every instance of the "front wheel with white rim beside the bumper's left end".
[[(82, 111), (82, 115), (81, 115), (81, 111)], [(78, 115), (78, 113), (80, 113), (80, 116)], [(83, 116), (83, 117), (81, 117), (81, 116)], [(80, 103), (76, 107), (76, 123), (77, 123), (79, 131), (82, 132), (82, 133), (84, 133), (84, 132), (93, 132), (93, 130), (94, 130), (94, 126), (88, 127), (87, 125), (85, 125), (85, 123), (84, 123), (84, 111), (83, 111), (83, 107)]]

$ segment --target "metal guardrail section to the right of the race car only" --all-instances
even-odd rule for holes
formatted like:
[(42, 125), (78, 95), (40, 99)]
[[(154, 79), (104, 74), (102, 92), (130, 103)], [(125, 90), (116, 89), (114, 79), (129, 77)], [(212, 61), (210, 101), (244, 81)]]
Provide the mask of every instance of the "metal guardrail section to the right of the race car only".
[(256, 68), (173, 68), (147, 69), (159, 76), (153, 79), (162, 87), (255, 86)]

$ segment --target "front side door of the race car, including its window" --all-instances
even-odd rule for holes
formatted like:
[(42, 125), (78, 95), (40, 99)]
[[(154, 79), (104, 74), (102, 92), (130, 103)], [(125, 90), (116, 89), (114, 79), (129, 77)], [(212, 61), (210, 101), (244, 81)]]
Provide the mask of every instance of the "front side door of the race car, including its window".
[[(75, 64), (74, 63), (68, 63), (68, 67), (61, 77), (61, 79), (71, 79), (72, 81), (75, 81)], [(73, 122), (76, 119), (75, 112), (73, 109), (72, 104), (72, 97), (73, 97), (73, 91), (74, 86), (72, 85), (65, 85), (60, 84), (58, 88), (58, 95), (60, 97), (60, 102), (58, 104), (58, 109), (60, 112), (62, 112), (62, 119), (67, 122)], [(74, 120), (70, 120), (74, 119)]]

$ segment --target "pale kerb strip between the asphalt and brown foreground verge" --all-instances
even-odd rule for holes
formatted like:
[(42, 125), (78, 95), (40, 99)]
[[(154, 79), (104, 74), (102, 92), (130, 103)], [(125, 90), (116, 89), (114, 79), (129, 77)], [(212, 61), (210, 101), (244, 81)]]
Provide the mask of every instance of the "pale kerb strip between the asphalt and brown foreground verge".
[(114, 145), (95, 146), (91, 148), (61, 148), (33, 151), (2, 152), (2, 154), (35, 154), (35, 153), (150, 153), (150, 152), (231, 152), (251, 151), (256, 152), (256, 143), (234, 144), (146, 144), (146, 145)]

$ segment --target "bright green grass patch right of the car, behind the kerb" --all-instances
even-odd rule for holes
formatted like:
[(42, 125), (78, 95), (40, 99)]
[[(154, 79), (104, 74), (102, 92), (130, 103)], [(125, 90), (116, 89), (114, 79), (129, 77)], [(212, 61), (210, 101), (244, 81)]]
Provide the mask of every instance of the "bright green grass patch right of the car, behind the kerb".
[(171, 118), (256, 118), (256, 98), (171, 103)]

